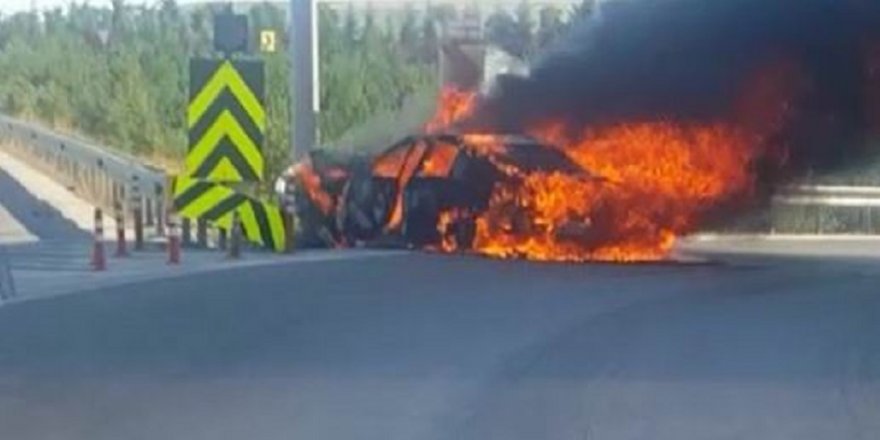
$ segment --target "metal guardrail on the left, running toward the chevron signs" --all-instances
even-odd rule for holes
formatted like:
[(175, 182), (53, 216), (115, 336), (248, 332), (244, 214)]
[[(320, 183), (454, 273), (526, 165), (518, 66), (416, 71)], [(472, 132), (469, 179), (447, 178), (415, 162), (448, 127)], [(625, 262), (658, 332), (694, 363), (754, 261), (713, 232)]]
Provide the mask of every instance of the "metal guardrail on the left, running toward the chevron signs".
[(132, 157), (92, 142), (0, 115), (0, 144), (108, 212), (114, 203), (141, 203), (147, 226), (164, 234), (168, 177)]

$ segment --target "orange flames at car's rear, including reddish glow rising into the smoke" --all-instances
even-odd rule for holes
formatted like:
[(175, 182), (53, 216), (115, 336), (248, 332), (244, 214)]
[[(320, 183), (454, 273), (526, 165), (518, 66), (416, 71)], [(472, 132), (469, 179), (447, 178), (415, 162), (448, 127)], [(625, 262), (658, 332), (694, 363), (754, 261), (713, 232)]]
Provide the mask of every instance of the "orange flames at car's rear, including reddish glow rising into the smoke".
[[(497, 184), (488, 210), (474, 219), (473, 251), (540, 261), (667, 258), (676, 238), (708, 214), (754, 194), (758, 161), (784, 160), (785, 149), (770, 139), (794, 105), (797, 73), (786, 63), (758, 69), (728, 122), (632, 121), (572, 130), (560, 120), (526, 127), (584, 176), (534, 172)], [(456, 106), (447, 110), (458, 114)], [(500, 139), (466, 136), (478, 145), (498, 146)], [(462, 215), (441, 215), (442, 250), (457, 250), (449, 228)]]

